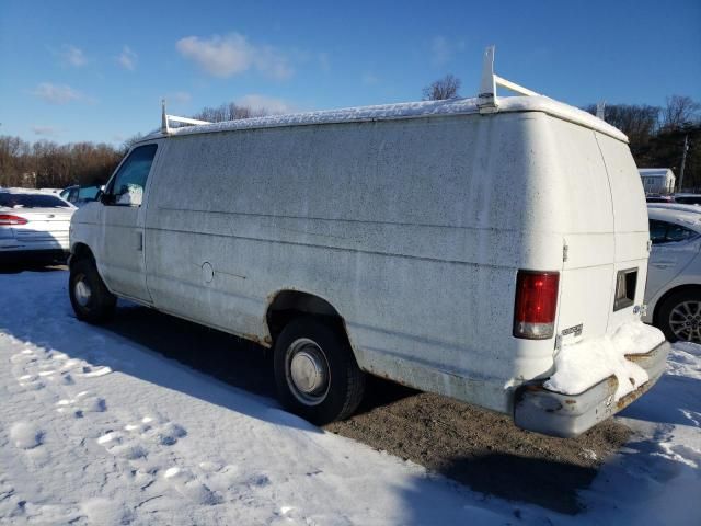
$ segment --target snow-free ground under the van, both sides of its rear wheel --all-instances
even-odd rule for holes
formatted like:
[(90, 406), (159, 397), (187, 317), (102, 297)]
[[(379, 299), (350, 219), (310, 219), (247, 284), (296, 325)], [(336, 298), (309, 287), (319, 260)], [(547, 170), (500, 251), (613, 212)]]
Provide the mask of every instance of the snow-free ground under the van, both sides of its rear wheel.
[[(120, 308), (106, 329), (232, 386), (275, 396), (269, 352), (235, 336), (141, 307)], [(425, 466), (485, 498), (561, 513), (581, 511), (577, 492), (630, 436), (613, 420), (577, 438), (518, 430), (505, 415), (371, 378), (357, 414), (325, 426)]]

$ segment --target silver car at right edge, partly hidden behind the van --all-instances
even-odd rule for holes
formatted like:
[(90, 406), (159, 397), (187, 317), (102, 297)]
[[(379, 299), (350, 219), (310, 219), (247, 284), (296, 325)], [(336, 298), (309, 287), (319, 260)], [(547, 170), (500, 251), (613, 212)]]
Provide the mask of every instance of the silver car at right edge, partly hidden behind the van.
[(701, 207), (650, 205), (644, 321), (667, 340), (701, 343)]

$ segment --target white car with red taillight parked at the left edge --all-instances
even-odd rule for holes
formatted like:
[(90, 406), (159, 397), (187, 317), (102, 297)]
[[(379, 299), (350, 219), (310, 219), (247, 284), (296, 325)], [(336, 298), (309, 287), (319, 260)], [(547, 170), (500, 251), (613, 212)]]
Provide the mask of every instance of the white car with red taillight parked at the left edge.
[(0, 263), (65, 260), (76, 207), (57, 195), (0, 190)]

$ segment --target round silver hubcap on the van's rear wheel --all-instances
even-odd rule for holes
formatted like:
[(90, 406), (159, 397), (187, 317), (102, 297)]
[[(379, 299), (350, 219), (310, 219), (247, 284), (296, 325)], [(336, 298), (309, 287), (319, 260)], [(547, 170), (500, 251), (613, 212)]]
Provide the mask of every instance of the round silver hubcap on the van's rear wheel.
[(326, 398), (330, 386), (329, 362), (321, 347), (301, 338), (287, 347), (287, 384), (306, 405), (317, 405)]

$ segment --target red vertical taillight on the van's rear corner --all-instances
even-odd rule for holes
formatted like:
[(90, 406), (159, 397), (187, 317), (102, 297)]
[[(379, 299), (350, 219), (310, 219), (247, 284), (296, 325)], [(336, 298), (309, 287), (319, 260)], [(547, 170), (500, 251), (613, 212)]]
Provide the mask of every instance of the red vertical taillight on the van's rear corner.
[(514, 336), (552, 338), (558, 310), (560, 273), (518, 271), (514, 305)]

